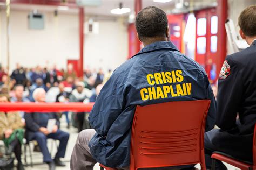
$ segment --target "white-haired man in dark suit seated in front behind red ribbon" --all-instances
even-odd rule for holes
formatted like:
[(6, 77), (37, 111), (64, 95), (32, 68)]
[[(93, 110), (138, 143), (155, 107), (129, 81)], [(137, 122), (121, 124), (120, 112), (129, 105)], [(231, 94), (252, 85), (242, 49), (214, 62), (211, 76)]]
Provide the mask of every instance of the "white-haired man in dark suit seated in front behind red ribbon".
[[(45, 90), (43, 88), (37, 88), (33, 92), (33, 98), (35, 98), (36, 102), (45, 102)], [(57, 114), (32, 112), (26, 113), (24, 117), (26, 121), (26, 139), (27, 141), (37, 141), (40, 150), (43, 153), (43, 161), (49, 165), (49, 169), (55, 169), (55, 165), (65, 166), (60, 158), (64, 158), (65, 156), (69, 133), (59, 129), (59, 119)], [(49, 131), (47, 126), (49, 119), (56, 119), (56, 125), (53, 126), (52, 131)], [(48, 138), (59, 140), (58, 151), (53, 160), (47, 148)]]

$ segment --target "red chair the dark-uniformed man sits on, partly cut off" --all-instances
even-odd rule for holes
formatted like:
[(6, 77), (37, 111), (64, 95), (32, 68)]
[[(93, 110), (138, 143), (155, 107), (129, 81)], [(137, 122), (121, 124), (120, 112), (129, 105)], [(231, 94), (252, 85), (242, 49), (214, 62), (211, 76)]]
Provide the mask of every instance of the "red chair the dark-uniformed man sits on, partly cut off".
[(227, 164), (238, 167), (242, 170), (245, 170), (245, 169), (256, 170), (256, 139), (255, 138), (256, 138), (256, 124), (254, 125), (254, 137), (253, 137), (253, 163), (235, 159), (231, 155), (228, 155), (223, 152), (213, 152), (212, 157), (211, 157), (212, 158), (212, 169), (213, 170), (215, 169), (215, 161), (217, 159), (220, 161), (224, 161)]

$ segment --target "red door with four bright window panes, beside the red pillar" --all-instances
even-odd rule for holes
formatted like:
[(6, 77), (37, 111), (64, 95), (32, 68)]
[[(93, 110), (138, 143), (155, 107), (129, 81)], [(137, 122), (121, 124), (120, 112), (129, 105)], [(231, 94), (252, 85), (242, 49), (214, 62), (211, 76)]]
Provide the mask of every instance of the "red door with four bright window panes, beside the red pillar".
[(215, 8), (197, 11), (195, 60), (205, 69), (210, 83), (217, 80), (218, 16)]

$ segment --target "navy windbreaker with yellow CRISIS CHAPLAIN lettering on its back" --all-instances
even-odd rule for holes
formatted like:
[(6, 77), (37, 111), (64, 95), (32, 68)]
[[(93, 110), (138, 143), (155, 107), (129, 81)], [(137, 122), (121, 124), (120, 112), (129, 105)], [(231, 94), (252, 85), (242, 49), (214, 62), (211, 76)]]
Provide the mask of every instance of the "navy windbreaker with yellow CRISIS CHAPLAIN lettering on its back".
[(113, 72), (97, 97), (89, 116), (97, 132), (89, 144), (93, 158), (108, 167), (129, 166), (136, 105), (200, 99), (211, 100), (209, 131), (215, 125), (216, 103), (204, 69), (172, 42), (147, 45)]

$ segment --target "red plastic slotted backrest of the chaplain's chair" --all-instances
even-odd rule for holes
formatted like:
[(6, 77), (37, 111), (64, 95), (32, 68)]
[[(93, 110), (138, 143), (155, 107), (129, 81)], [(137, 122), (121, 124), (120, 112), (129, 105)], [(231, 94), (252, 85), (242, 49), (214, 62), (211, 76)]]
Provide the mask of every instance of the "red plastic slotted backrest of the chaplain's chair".
[(201, 164), (205, 169), (204, 131), (210, 100), (137, 106), (130, 169)]

